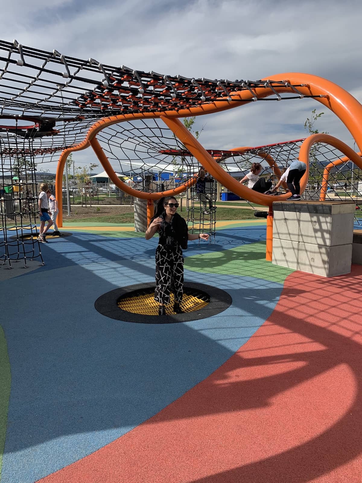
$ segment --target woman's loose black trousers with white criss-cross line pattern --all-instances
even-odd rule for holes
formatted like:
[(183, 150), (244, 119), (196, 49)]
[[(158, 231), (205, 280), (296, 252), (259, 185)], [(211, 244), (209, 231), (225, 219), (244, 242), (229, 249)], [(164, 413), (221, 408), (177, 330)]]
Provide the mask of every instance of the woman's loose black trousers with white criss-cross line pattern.
[(168, 252), (162, 245), (156, 248), (156, 290), (154, 299), (167, 304), (170, 292), (175, 295), (175, 302), (182, 301), (183, 294), (183, 257), (181, 248), (175, 247)]

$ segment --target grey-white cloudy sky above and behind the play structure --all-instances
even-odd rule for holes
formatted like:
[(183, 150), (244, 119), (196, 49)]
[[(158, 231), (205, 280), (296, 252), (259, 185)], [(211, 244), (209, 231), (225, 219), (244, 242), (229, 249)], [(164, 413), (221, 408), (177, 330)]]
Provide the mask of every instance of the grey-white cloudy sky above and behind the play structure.
[[(195, 78), (307, 72), (362, 102), (360, 0), (17, 0), (2, 2), (1, 13), (1, 37), (9, 42)], [(306, 136), (314, 108), (326, 113), (316, 128), (353, 147), (339, 119), (313, 99), (255, 102), (200, 116), (196, 128), (205, 125), (206, 148), (288, 141)], [(91, 150), (73, 158), (79, 166), (96, 161)]]

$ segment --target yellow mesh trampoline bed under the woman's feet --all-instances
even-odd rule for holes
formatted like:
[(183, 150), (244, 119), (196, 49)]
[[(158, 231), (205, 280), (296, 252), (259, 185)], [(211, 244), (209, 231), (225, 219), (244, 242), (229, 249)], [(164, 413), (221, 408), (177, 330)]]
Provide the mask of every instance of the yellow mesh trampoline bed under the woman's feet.
[[(126, 312), (139, 313), (142, 315), (158, 315), (158, 302), (153, 298), (154, 292), (148, 294), (135, 294), (134, 296), (120, 298), (117, 305), (120, 309)], [(167, 315), (173, 315), (172, 310), (174, 303), (174, 296), (170, 294), (170, 303), (166, 305)], [(183, 294), (182, 303), (180, 307), (183, 312), (194, 312), (196, 310), (203, 309), (209, 304), (208, 300), (205, 300), (201, 294)]]

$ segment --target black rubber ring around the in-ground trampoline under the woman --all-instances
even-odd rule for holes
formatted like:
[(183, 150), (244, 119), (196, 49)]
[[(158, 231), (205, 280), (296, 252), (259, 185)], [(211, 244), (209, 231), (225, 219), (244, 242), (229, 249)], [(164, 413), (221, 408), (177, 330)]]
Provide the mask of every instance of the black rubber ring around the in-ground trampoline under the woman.
[(94, 303), (97, 312), (105, 317), (122, 322), (132, 322), (135, 324), (176, 324), (180, 322), (190, 322), (192, 320), (206, 319), (225, 311), (232, 304), (231, 296), (221, 290), (205, 284), (194, 284), (187, 282), (184, 284), (185, 289), (191, 289), (204, 293), (209, 297), (209, 303), (206, 307), (187, 313), (177, 313), (174, 315), (143, 315), (140, 313), (131, 313), (118, 307), (119, 298), (130, 296), (132, 293), (142, 290), (150, 290), (155, 288), (155, 283), (127, 285), (126, 287), (116, 288), (100, 297)]

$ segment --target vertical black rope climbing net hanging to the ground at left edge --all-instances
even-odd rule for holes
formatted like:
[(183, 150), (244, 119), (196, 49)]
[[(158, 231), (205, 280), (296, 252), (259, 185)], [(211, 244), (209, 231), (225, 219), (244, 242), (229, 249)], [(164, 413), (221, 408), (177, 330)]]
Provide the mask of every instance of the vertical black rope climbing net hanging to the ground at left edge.
[(12, 262), (39, 258), (44, 264), (37, 239), (38, 209), (35, 156), (31, 136), (21, 126), (3, 128), (0, 133), (0, 260), (12, 268)]

